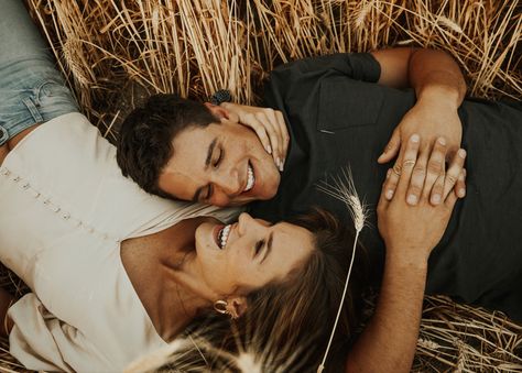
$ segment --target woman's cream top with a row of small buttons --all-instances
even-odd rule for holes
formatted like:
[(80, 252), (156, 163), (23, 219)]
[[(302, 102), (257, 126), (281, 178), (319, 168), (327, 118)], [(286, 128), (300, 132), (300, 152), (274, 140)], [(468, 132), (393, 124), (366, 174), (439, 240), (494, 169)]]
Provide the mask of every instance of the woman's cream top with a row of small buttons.
[(33, 290), (9, 309), (11, 353), (32, 370), (107, 372), (164, 347), (122, 266), (121, 241), (237, 212), (142, 191), (79, 113), (40, 125), (0, 167), (0, 260)]

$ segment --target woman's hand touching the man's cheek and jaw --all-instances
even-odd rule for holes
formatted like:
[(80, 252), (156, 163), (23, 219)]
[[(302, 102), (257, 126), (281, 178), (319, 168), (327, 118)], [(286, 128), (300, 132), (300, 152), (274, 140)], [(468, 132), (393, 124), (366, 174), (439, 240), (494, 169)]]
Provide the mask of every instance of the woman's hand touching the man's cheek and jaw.
[(278, 168), (283, 171), (290, 141), (283, 113), (270, 108), (232, 102), (222, 102), (220, 107), (228, 111), (228, 119), (251, 128), (258, 134), (263, 147), (272, 154)]

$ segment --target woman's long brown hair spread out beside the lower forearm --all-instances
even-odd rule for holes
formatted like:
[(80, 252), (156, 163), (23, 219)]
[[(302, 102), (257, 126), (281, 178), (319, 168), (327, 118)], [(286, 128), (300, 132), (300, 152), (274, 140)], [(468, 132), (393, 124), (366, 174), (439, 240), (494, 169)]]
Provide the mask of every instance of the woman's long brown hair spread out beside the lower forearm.
[[(317, 370), (345, 286), (355, 230), (351, 223), (340, 222), (320, 209), (289, 222), (314, 233), (315, 250), (282, 282), (268, 284), (250, 293), (248, 309), (239, 319), (229, 323), (221, 315), (206, 315), (203, 323), (191, 328), (189, 333), (196, 340), (203, 338), (205, 341), (199, 345), (205, 350), (205, 359), (200, 363), (207, 369), (244, 372), (236, 358), (230, 360), (229, 353), (238, 356), (247, 352), (263, 372)], [(336, 329), (334, 353), (335, 348), (351, 340), (358, 329), (362, 292), (368, 283), (367, 265), (365, 249), (358, 244), (348, 293)], [(336, 367), (339, 366), (329, 365), (327, 361), (327, 371)]]

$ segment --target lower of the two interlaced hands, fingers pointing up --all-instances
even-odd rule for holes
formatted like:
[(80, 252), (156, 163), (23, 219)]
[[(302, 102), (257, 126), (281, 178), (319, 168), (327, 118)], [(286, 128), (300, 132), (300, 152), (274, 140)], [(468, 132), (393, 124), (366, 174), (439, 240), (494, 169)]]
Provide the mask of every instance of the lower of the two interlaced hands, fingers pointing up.
[[(384, 196), (390, 175), (393, 173), (389, 169), (377, 212), (379, 231), (385, 242), (387, 254), (425, 262), (433, 248), (441, 241), (457, 200), (454, 185), (458, 177), (448, 175), (464, 177), (466, 153), (460, 150), (457, 152), (446, 175), (446, 141), (443, 138), (437, 139), (426, 164), (418, 163), (420, 146), (421, 138), (418, 134), (413, 134), (405, 144), (396, 191), (392, 200), (388, 200)], [(411, 194), (410, 184), (416, 172), (425, 176), (421, 184), (420, 197), (415, 206), (412, 206), (406, 200), (415, 198)], [(433, 206), (429, 204), (429, 196), (435, 190), (442, 197), (441, 201)]]

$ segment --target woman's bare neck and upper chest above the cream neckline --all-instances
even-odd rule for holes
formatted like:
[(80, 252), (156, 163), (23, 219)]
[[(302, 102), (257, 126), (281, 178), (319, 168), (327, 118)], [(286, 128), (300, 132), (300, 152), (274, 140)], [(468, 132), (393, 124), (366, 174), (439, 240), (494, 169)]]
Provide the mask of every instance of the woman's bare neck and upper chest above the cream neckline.
[(203, 309), (211, 307), (193, 265), (194, 233), (208, 219), (211, 218), (183, 220), (121, 245), (127, 274), (157, 333), (166, 341), (183, 331)]

